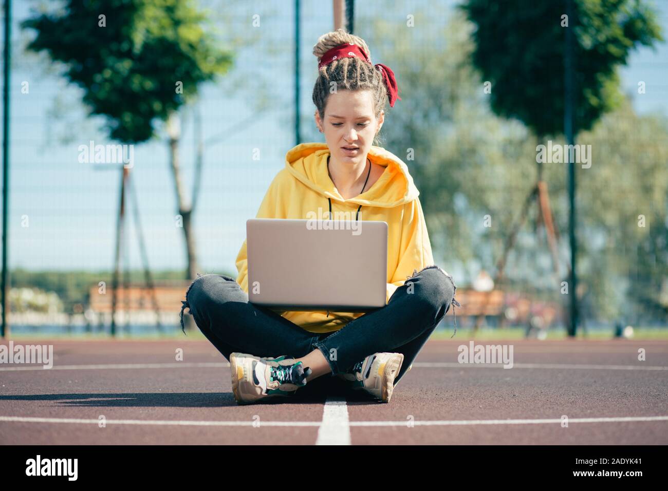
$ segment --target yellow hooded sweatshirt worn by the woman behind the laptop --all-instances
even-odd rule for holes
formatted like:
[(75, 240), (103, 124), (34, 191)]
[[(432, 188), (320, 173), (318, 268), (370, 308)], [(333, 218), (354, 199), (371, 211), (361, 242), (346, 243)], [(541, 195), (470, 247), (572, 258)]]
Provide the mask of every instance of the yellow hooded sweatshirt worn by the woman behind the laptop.
[[(306, 220), (307, 213), (327, 220), (331, 198), (333, 216), (349, 212), (359, 220), (387, 222), (387, 297), (403, 285), (415, 270), (434, 264), (432, 246), (418, 199), (420, 192), (401, 159), (387, 150), (372, 146), (368, 158), (385, 167), (385, 172), (371, 188), (355, 198), (344, 199), (327, 172), (329, 148), (324, 143), (303, 143), (285, 156), (281, 169), (269, 185), (257, 212), (257, 218), (296, 218)], [(321, 210), (318, 210), (321, 208)], [(311, 217), (308, 217), (311, 218)], [(246, 240), (236, 257), (237, 283), (248, 293), (248, 257)], [(326, 311), (284, 311), (282, 317), (312, 333), (338, 331), (363, 313)]]

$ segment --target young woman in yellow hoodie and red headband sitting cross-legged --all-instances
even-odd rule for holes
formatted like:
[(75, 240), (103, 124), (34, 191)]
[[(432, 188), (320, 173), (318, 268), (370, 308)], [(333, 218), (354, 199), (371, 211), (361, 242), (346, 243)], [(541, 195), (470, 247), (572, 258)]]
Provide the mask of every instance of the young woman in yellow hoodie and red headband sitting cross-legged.
[(187, 306), (230, 361), (238, 403), (291, 396), (322, 375), (337, 375), (389, 402), (450, 305), (459, 305), (452, 277), (433, 264), (419, 192), (406, 164), (373, 146), (385, 102), (400, 100), (394, 74), (372, 65), (367, 44), (341, 29), (321, 36), (313, 54), (319, 61), (315, 124), (326, 144), (304, 143), (287, 153), (257, 218), (316, 214), (335, 220), (343, 214), (387, 222), (387, 305), (368, 313), (277, 313), (248, 303), (244, 240), (236, 279), (198, 275), (181, 309), (181, 323)]

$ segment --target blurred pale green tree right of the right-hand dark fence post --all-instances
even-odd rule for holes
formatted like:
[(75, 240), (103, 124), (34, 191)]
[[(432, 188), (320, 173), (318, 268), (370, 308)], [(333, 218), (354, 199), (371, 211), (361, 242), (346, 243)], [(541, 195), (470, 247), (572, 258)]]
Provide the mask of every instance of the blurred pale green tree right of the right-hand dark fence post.
[(578, 195), (581, 273), (593, 308), (607, 321), (665, 322), (668, 118), (638, 116), (624, 100), (580, 140), (594, 154)]

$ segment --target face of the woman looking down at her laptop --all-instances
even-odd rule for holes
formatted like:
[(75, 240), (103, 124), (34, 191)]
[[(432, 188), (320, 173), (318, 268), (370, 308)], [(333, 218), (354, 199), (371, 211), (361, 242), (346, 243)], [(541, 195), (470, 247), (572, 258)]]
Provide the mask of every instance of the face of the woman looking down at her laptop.
[[(324, 121), (320, 120), (317, 110), (315, 112), (315, 122), (325, 134), (332, 158), (351, 164), (366, 163), (373, 138), (383, 126), (384, 119), (384, 112), (377, 119), (373, 116), (370, 90), (341, 90), (330, 94)], [(349, 152), (346, 147), (356, 150)]]

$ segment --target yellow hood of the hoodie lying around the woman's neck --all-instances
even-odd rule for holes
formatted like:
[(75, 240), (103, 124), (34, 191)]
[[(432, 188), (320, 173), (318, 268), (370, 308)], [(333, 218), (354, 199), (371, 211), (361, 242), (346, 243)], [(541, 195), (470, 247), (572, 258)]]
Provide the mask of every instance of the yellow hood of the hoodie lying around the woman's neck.
[(325, 143), (302, 143), (287, 152), (285, 166), (287, 170), (306, 186), (323, 198), (339, 202), (349, 202), (362, 206), (393, 208), (411, 202), (420, 192), (413, 184), (413, 178), (403, 161), (384, 148), (371, 146), (367, 157), (371, 162), (385, 167), (385, 172), (359, 196), (344, 199), (336, 190), (327, 172), (329, 147)]

